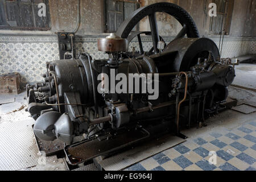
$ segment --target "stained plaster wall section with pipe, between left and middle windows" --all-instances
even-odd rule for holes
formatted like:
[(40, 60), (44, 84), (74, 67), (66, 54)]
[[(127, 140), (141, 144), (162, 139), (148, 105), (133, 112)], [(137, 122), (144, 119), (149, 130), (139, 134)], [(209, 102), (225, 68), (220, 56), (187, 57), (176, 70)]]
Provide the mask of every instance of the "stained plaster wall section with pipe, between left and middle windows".
[[(50, 0), (51, 31), (75, 30), (78, 0)], [(80, 27), (77, 34), (99, 34), (103, 32), (103, 1), (81, 0)]]

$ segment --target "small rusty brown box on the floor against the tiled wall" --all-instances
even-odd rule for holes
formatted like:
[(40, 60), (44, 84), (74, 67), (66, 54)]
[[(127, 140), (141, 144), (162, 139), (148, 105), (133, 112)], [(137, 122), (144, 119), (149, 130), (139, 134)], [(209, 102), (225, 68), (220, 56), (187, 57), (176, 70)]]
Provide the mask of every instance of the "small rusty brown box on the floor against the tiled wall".
[(19, 73), (9, 73), (7, 75), (0, 75), (0, 95), (19, 94), (20, 89), (20, 75)]

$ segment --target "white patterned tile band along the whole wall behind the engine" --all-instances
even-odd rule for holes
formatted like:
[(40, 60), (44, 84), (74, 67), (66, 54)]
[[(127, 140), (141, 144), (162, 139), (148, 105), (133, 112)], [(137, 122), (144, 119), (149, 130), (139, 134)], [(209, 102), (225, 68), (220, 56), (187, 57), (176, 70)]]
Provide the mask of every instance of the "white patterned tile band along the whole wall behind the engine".
[[(93, 59), (106, 59), (108, 55), (97, 51), (97, 36), (80, 36), (76, 38), (76, 48), (79, 52), (88, 52)], [(165, 37), (166, 42), (172, 40)], [(148, 51), (152, 47), (150, 37), (143, 37), (143, 49)], [(213, 38), (217, 44), (219, 40)], [(236, 57), (246, 53), (256, 53), (255, 39), (225, 39), (222, 57)], [(139, 50), (137, 40), (130, 43), (129, 50), (135, 47)], [(18, 36), (0, 35), (0, 75), (19, 72), (22, 83), (42, 81), (42, 74), (46, 71), (46, 61), (59, 59), (57, 37), (47, 36)]]

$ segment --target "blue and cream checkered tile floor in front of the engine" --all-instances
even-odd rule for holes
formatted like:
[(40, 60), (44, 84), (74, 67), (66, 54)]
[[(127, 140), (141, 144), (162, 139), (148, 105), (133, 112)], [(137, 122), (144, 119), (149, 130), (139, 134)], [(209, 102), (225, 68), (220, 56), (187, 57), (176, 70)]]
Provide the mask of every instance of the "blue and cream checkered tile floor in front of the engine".
[[(216, 164), (209, 164), (210, 151)], [(256, 122), (212, 130), (126, 168), (129, 171), (255, 171)]]

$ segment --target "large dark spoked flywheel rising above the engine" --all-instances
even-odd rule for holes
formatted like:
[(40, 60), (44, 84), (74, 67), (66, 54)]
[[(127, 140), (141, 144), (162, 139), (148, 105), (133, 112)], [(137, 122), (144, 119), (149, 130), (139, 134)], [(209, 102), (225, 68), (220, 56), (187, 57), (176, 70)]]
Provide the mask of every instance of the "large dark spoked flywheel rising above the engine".
[[(140, 9), (134, 11), (133, 14), (127, 18), (117, 30), (117, 35), (121, 38), (128, 38), (131, 30), (136, 26), (136, 24), (142, 20), (144, 17), (148, 16), (150, 21), (150, 29), (152, 36), (152, 43), (154, 47), (154, 53), (158, 53), (157, 48), (158, 42), (160, 40), (158, 33), (158, 26), (156, 23), (156, 13), (162, 12), (167, 13), (181, 24), (183, 27), (180, 32), (177, 34), (175, 39), (183, 38), (186, 34), (188, 38), (199, 38), (199, 32), (197, 30), (196, 24), (191, 18), (191, 16), (180, 6), (177, 6), (172, 3), (160, 2), (152, 5), (143, 6)], [(138, 35), (139, 38), (140, 34)], [(138, 40), (141, 40), (140, 38)], [(141, 44), (141, 43), (140, 43)], [(141, 47), (141, 46), (140, 46)], [(143, 52), (141, 50), (141, 52)]]

